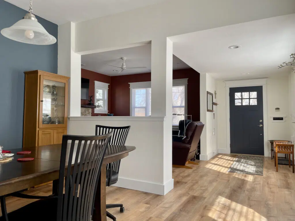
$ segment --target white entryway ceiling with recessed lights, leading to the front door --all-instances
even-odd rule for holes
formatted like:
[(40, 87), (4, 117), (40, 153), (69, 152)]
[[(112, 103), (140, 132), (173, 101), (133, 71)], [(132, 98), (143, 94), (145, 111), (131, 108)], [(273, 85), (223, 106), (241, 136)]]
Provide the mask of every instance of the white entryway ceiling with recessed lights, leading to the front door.
[[(217, 79), (268, 77), (291, 72), (277, 68), (295, 53), (295, 14), (169, 37), (173, 54)], [(231, 45), (241, 45), (230, 50)], [(242, 75), (249, 72), (249, 75)]]

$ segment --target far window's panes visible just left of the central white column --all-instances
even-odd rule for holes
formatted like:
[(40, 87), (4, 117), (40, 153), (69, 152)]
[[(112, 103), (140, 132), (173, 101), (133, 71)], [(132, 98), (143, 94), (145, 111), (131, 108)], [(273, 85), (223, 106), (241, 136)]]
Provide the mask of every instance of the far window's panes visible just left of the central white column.
[(151, 115), (151, 88), (132, 89), (132, 116)]

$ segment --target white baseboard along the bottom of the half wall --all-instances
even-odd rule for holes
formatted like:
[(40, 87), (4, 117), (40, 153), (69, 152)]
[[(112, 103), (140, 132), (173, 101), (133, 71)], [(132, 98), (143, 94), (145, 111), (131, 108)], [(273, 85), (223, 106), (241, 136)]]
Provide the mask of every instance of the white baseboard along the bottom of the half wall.
[(134, 179), (126, 179), (119, 177), (118, 182), (114, 184), (115, 187), (122, 187), (126, 189), (134, 189), (142, 192), (148, 192), (158, 195), (165, 195), (174, 187), (174, 179), (169, 180), (164, 185), (157, 183), (150, 183)]

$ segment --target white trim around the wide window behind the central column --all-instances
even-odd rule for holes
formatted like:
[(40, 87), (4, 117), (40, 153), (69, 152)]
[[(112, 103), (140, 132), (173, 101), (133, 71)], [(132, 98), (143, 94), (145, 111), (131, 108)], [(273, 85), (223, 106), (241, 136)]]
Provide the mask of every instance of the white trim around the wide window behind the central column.
[[(185, 107), (184, 107), (184, 113), (187, 114), (187, 80), (189, 78), (182, 78), (182, 79), (174, 79), (172, 82), (172, 86), (183, 86), (185, 90)], [(136, 88), (152, 88), (151, 81), (142, 81), (142, 82), (132, 82), (128, 83), (130, 85), (130, 116), (132, 116), (132, 89)], [(172, 91), (171, 91), (172, 96)], [(171, 107), (172, 108), (172, 107)], [(176, 127), (176, 126), (173, 126)], [(178, 126), (177, 126), (178, 128)]]

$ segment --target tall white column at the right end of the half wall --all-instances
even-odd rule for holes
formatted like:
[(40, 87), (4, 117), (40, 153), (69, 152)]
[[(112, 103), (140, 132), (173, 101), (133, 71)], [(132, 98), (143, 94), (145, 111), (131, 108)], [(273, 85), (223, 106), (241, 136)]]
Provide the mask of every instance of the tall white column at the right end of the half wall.
[(165, 116), (163, 134), (164, 194), (173, 189), (172, 179), (172, 71), (173, 43), (168, 38), (152, 39), (151, 114)]

